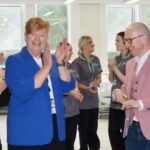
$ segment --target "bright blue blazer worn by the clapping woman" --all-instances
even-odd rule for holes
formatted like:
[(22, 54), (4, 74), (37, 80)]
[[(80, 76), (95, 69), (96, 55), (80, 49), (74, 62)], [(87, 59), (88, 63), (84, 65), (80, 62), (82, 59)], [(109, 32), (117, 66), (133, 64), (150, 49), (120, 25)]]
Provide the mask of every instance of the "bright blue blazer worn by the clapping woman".
[[(63, 93), (74, 88), (75, 81), (60, 79), (56, 58), (52, 56), (50, 77), (57, 112), (59, 140), (65, 139)], [(53, 121), (47, 81), (34, 88), (34, 75), (39, 66), (24, 47), (6, 61), (6, 82), (11, 92), (8, 106), (7, 141), (11, 145), (45, 145), (53, 139)]]

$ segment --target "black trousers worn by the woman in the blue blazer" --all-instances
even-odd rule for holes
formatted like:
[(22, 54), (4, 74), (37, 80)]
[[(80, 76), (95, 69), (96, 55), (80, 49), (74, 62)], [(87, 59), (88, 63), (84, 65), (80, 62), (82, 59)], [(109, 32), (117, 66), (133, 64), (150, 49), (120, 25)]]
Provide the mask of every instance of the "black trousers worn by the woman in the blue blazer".
[(40, 146), (17, 146), (17, 145), (8, 145), (8, 150), (66, 150), (65, 141), (58, 140), (58, 131), (57, 131), (57, 121), (56, 115), (53, 115), (53, 124), (54, 124), (54, 136), (51, 143), (47, 145)]

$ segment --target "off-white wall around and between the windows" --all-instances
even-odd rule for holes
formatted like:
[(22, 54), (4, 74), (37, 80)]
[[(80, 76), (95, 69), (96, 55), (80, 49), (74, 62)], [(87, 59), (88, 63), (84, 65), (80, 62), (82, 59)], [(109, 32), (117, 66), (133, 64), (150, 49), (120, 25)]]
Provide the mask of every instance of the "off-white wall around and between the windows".
[[(26, 20), (35, 16), (35, 3), (39, 4), (63, 4), (65, 0), (0, 0), (1, 5), (23, 4), (24, 24)], [(146, 4), (150, 1), (143, 0)], [(75, 0), (68, 6), (69, 12), (69, 41), (73, 45), (74, 58), (77, 57), (78, 39), (81, 35), (92, 36), (95, 43), (95, 54), (100, 58), (103, 71), (107, 69), (107, 42), (106, 42), (106, 6), (124, 4), (123, 0)], [(144, 21), (144, 4), (140, 5), (140, 18), (136, 20)], [(138, 11), (137, 11), (138, 12)], [(24, 29), (24, 27), (23, 27)], [(22, 36), (24, 36), (22, 34)]]

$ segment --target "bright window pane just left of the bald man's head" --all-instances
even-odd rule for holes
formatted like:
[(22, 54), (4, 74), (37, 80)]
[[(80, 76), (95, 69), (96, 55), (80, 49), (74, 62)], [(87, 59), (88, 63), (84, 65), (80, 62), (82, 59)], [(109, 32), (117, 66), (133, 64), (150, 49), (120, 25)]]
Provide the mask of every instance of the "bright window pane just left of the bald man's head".
[[(132, 22), (131, 7), (109, 7), (107, 11), (107, 51), (115, 51), (115, 37)], [(112, 53), (110, 53), (111, 56)]]

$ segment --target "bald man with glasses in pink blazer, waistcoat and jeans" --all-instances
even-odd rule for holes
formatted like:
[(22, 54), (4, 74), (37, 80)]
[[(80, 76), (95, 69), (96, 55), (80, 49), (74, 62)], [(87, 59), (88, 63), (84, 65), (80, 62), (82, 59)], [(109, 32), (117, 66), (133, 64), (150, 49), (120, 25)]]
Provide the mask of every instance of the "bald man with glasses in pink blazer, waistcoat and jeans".
[(126, 111), (126, 150), (150, 150), (150, 31), (136, 22), (125, 31), (125, 44), (133, 59), (126, 65), (126, 80), (113, 91)]

